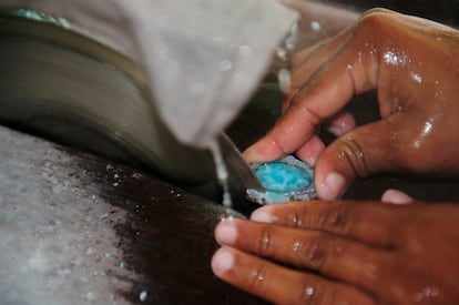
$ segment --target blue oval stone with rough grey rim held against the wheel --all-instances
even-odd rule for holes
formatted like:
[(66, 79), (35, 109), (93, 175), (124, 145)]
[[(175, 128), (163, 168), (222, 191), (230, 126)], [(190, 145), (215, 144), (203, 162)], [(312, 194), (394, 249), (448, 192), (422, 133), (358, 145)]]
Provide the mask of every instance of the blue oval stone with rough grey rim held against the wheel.
[(252, 169), (264, 190), (247, 190), (249, 201), (274, 204), (316, 197), (314, 169), (293, 155), (269, 163), (253, 164)]

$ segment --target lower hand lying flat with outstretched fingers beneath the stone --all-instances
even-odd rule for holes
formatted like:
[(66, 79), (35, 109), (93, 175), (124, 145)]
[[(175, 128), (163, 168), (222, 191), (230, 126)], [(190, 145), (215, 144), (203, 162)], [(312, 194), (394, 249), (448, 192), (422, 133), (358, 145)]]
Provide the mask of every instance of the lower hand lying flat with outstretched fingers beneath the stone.
[(226, 218), (222, 279), (276, 304), (459, 304), (459, 206), (307, 202)]

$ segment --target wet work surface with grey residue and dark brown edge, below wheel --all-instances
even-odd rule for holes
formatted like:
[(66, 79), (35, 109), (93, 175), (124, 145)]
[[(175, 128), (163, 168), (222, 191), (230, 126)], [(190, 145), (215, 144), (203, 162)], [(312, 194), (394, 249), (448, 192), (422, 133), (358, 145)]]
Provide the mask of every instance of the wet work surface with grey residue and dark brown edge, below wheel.
[(1, 126), (0, 141), (0, 304), (263, 304), (210, 267), (215, 224), (241, 214)]

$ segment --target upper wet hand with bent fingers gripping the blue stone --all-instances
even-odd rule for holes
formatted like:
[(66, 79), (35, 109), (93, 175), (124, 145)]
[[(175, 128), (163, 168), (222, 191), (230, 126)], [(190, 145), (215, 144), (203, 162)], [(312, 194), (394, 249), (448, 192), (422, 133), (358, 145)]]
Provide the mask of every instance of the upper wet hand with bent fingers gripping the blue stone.
[[(289, 153), (315, 163), (323, 200), (356, 176), (382, 171), (459, 173), (459, 32), (424, 19), (371, 10), (353, 27), (298, 53), (285, 112), (244, 153), (266, 162)], [(377, 90), (381, 119), (356, 128), (341, 112), (354, 94)], [(323, 125), (337, 135), (329, 146)]]

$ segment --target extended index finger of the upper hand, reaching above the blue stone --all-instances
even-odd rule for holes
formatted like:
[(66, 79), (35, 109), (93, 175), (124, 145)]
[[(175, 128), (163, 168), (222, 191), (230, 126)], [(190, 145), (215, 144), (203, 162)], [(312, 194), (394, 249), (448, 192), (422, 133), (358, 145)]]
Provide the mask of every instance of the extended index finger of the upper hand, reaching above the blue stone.
[[(376, 87), (378, 60), (373, 43), (354, 39), (356, 34), (349, 37), (293, 94), (276, 125), (245, 151), (249, 162), (272, 161), (297, 151), (354, 94)], [(315, 57), (308, 60), (314, 61)]]

